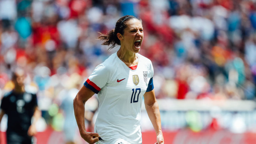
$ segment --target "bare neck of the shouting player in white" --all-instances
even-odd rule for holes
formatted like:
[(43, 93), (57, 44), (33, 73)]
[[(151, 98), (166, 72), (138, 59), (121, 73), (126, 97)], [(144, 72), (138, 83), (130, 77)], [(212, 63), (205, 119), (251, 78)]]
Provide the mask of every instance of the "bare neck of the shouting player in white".
[(120, 48), (117, 51), (117, 56), (122, 60), (128, 67), (138, 65), (138, 58), (136, 53), (129, 52), (124, 48)]

